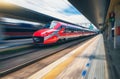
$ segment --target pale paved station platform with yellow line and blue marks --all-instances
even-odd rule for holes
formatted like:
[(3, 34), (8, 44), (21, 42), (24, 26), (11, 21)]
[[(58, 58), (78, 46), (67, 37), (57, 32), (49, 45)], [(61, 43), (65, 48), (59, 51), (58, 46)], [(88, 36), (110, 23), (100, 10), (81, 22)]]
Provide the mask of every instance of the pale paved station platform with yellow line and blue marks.
[(109, 79), (102, 34), (56, 60), (28, 79)]

